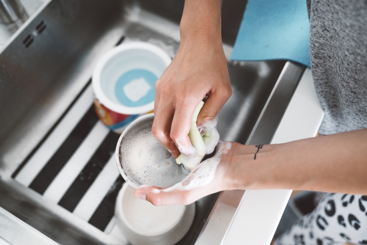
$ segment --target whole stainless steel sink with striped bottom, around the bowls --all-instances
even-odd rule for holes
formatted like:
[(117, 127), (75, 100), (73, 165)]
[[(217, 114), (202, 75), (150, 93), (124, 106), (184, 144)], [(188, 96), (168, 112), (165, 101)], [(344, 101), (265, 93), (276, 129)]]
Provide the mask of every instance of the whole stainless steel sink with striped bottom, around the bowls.
[[(233, 95), (218, 131), (223, 140), (266, 144), (303, 68), (229, 61), (245, 5), (223, 2)], [(113, 218), (123, 183), (109, 167), (118, 135), (94, 114), (91, 73), (127, 40), (154, 43), (173, 57), (182, 9), (183, 0), (52, 0), (21, 27), (0, 53), (0, 208), (59, 244), (128, 244)], [(194, 223), (178, 244), (220, 244), (243, 196), (237, 194), (197, 201)], [(221, 205), (226, 201), (234, 204)], [(219, 222), (222, 209), (229, 212)], [(211, 227), (221, 227), (216, 236), (208, 235)]]

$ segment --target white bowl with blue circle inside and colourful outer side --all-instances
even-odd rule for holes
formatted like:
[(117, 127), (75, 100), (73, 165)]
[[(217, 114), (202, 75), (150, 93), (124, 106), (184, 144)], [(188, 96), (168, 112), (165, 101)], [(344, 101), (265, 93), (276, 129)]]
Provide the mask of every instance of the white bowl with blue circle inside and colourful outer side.
[(109, 50), (92, 75), (99, 119), (121, 133), (139, 115), (152, 112), (155, 82), (170, 62), (166, 51), (146, 42), (126, 42)]

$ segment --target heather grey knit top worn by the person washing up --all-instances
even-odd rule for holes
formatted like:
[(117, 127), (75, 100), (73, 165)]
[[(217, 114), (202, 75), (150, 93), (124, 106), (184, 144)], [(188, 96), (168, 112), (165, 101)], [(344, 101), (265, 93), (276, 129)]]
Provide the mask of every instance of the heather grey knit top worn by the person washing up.
[(307, 0), (319, 132), (367, 127), (367, 0)]

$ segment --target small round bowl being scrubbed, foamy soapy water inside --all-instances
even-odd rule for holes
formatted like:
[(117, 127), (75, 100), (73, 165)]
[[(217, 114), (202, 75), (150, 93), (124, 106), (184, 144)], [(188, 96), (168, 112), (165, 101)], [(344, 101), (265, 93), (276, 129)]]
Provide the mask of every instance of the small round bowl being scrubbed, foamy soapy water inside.
[(135, 119), (121, 134), (116, 146), (116, 163), (122, 177), (132, 187), (172, 186), (189, 174), (177, 165), (171, 153), (152, 134), (154, 114)]

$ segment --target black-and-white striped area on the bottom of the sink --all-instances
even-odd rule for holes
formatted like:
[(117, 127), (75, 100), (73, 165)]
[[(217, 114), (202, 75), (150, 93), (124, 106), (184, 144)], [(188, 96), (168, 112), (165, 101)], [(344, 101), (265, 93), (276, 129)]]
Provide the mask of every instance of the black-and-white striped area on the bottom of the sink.
[(12, 178), (110, 233), (116, 196), (124, 182), (114, 155), (118, 138), (98, 120), (89, 81)]

